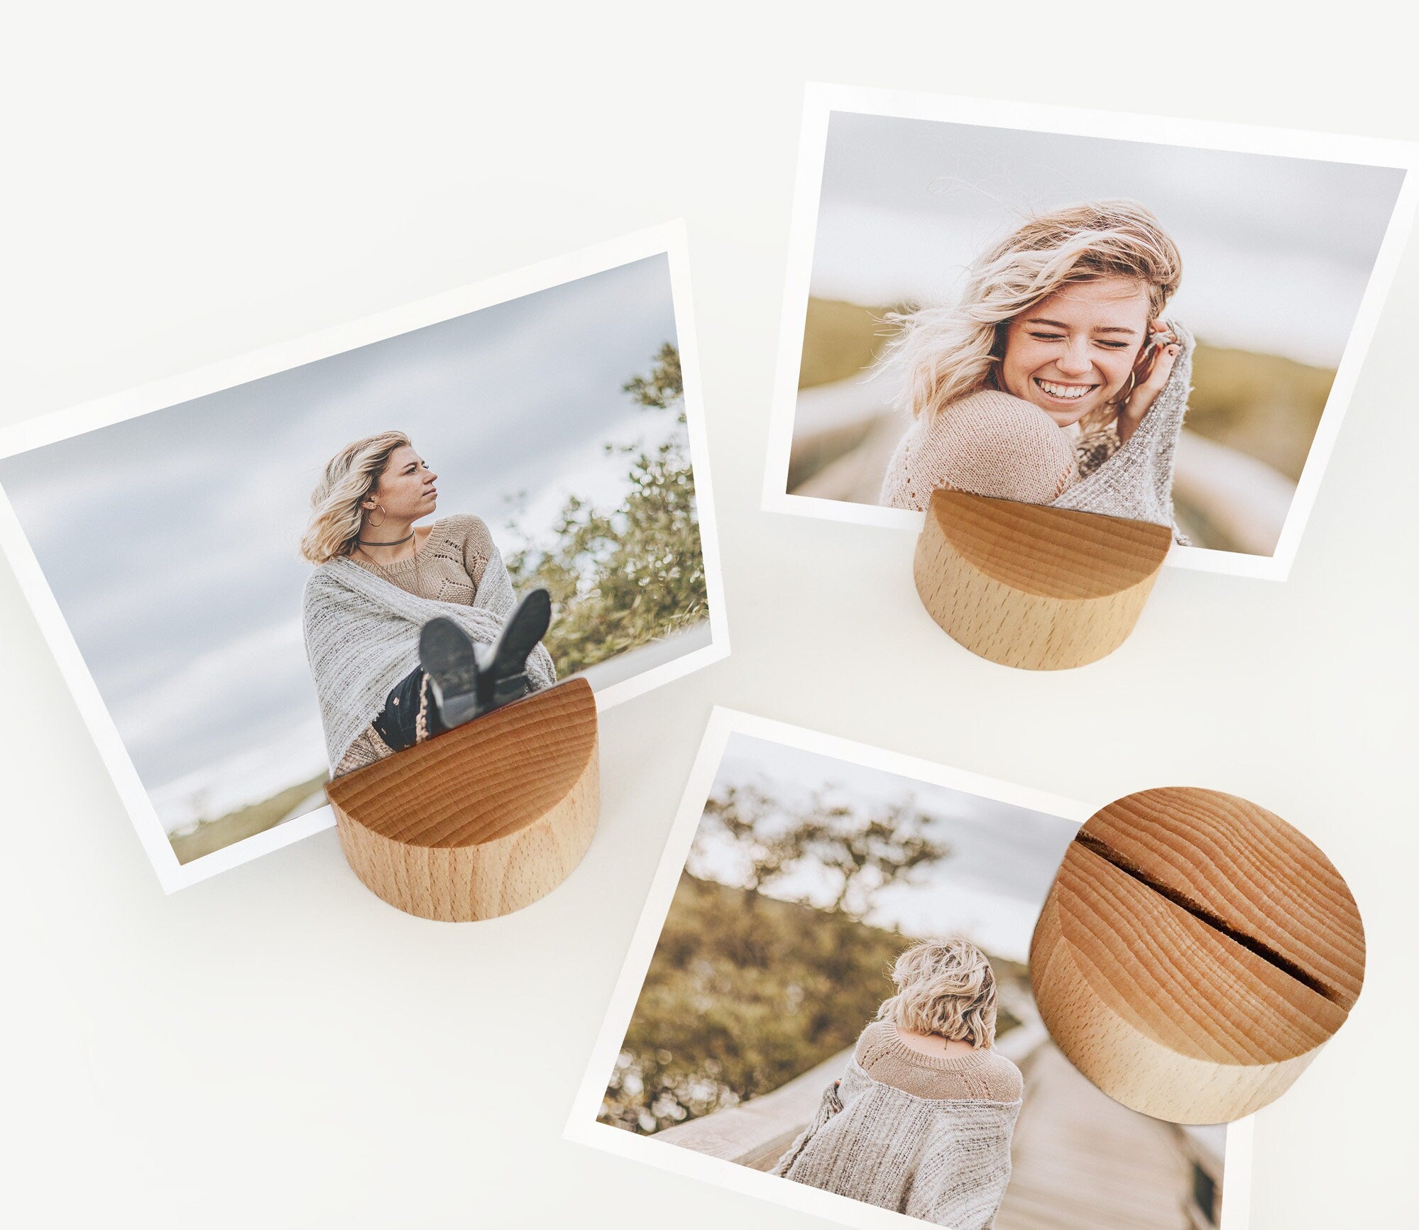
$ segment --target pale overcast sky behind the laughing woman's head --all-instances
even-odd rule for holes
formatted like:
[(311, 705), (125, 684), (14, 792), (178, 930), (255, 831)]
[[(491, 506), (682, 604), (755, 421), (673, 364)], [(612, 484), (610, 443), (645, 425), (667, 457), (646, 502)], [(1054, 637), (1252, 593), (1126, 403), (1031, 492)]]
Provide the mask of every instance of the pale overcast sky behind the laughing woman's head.
[(1317, 159), (833, 112), (812, 291), (948, 302), (1026, 213), (1132, 197), (1182, 253), (1206, 342), (1335, 366), (1403, 172)]

